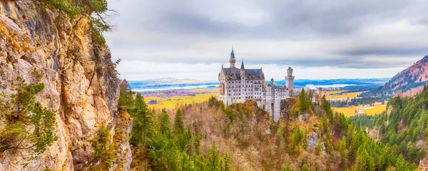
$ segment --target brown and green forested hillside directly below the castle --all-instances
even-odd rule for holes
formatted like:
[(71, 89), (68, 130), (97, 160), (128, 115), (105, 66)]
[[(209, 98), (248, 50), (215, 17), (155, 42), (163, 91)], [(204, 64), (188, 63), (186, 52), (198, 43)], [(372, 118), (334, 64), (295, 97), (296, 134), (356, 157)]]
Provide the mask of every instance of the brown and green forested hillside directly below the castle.
[(279, 122), (254, 101), (215, 98), (175, 111), (152, 111), (121, 84), (119, 103), (133, 118), (133, 170), (414, 170), (374, 142), (322, 98), (303, 91)]

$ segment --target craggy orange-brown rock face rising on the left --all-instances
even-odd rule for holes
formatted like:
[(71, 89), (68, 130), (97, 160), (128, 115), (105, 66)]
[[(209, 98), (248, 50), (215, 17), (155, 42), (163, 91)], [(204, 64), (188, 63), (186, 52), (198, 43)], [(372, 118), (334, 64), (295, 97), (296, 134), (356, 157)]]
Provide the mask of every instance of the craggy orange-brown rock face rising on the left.
[[(17, 77), (44, 83), (36, 99), (56, 115), (58, 136), (35, 160), (29, 161), (29, 150), (4, 151), (0, 171), (89, 170), (97, 165), (91, 144), (100, 125), (113, 137), (129, 135), (131, 122), (118, 113), (111, 54), (92, 42), (88, 26), (85, 17), (71, 20), (37, 1), (0, 0), (0, 93), (14, 93)], [(118, 144), (111, 170), (129, 170), (130, 145), (126, 138)]]

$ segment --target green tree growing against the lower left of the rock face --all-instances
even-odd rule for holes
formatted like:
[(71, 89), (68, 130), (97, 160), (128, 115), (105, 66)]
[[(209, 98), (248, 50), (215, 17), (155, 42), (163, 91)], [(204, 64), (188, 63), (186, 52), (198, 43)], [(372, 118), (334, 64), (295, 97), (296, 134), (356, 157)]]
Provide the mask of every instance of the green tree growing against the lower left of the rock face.
[[(27, 84), (20, 77), (16, 81), (16, 93), (9, 97), (10, 103), (0, 100), (1, 113), (6, 118), (4, 127), (0, 128), (0, 152), (32, 149), (33, 155), (39, 155), (57, 140), (54, 134), (56, 118), (36, 101), (35, 95), (44, 89), (43, 83)], [(30, 140), (30, 145), (21, 143), (24, 140)]]

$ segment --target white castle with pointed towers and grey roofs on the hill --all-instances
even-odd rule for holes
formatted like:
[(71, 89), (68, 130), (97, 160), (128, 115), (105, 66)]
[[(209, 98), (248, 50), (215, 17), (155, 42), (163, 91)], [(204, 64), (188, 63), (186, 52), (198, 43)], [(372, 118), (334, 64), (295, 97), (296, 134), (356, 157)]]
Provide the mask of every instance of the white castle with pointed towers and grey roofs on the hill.
[(221, 67), (218, 74), (220, 94), (219, 100), (225, 105), (244, 103), (245, 100), (255, 100), (261, 108), (270, 113), (272, 120), (279, 120), (281, 114), (281, 101), (293, 95), (294, 76), (292, 68), (287, 69), (285, 86), (275, 85), (273, 78), (265, 83), (265, 74), (262, 68), (246, 69), (244, 61), (240, 68), (235, 67), (235, 53), (230, 53), (229, 68)]

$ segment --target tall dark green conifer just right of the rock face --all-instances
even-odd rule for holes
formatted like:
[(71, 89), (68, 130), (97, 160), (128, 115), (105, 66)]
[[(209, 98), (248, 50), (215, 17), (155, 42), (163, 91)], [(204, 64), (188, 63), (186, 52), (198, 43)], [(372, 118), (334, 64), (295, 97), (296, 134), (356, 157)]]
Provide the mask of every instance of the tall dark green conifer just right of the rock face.
[(151, 132), (153, 113), (148, 110), (140, 93), (136, 95), (136, 100), (131, 109), (131, 117), (133, 118), (131, 142), (134, 144), (142, 143), (143, 146), (146, 146), (147, 135)]

